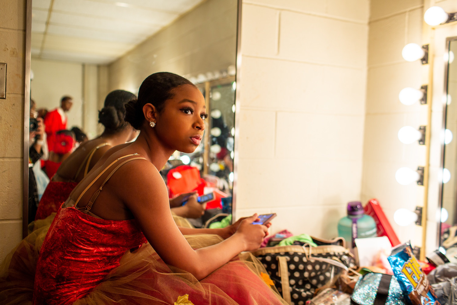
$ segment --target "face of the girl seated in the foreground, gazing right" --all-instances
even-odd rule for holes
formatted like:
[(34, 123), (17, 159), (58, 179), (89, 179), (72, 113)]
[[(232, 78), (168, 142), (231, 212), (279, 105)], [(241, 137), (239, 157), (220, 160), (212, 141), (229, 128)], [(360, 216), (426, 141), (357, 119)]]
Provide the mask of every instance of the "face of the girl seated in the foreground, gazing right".
[(182, 85), (173, 90), (174, 96), (165, 101), (156, 113), (156, 133), (162, 143), (172, 150), (192, 153), (203, 139), (207, 118), (205, 99), (196, 87)]

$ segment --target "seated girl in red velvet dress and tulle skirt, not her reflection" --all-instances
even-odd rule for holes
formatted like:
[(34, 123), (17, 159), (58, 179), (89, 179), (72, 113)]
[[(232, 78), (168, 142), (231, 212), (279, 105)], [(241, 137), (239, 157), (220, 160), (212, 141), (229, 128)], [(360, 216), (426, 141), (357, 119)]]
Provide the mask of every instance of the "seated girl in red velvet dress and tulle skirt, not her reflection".
[(33, 304), (174, 304), (186, 294), (196, 305), (286, 304), (260, 278), (261, 264), (239, 256), (266, 235), (267, 226), (251, 224), (257, 214), (206, 231), (218, 235), (173, 220), (159, 170), (175, 150), (197, 148), (206, 118), (201, 92), (185, 78), (159, 72), (143, 81), (125, 116), (140, 134), (59, 209), (40, 250)]

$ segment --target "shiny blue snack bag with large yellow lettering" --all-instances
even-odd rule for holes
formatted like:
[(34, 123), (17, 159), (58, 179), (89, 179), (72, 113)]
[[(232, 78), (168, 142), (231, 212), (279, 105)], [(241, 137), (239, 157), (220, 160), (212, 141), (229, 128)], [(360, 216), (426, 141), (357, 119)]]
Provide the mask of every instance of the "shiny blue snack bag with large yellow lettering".
[(409, 304), (440, 305), (409, 242), (394, 247), (387, 259)]

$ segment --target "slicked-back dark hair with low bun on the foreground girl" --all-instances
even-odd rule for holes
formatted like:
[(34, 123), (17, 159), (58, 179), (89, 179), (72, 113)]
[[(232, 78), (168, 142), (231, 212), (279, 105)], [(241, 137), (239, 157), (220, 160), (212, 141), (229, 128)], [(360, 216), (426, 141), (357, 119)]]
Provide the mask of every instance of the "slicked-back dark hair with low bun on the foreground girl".
[(151, 103), (161, 112), (165, 101), (173, 97), (173, 89), (191, 85), (191, 81), (170, 72), (157, 72), (149, 75), (140, 86), (138, 100), (125, 104), (125, 120), (135, 129), (140, 129), (144, 121), (143, 106)]

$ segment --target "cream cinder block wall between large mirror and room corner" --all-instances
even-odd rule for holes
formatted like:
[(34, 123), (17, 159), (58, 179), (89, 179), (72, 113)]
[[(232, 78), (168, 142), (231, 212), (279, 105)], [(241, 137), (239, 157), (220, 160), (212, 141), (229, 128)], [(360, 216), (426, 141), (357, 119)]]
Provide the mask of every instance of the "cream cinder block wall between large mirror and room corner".
[(368, 0), (245, 0), (236, 217), (335, 237), (361, 199)]

